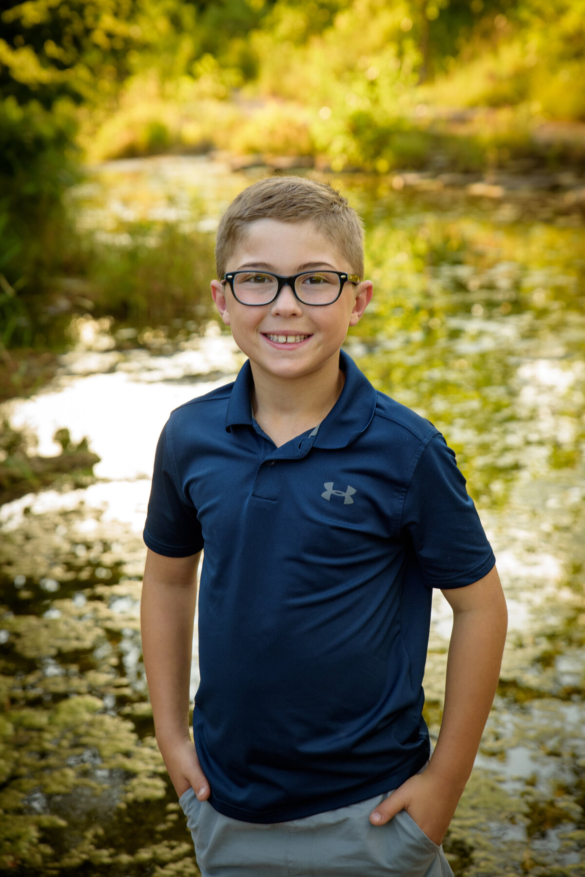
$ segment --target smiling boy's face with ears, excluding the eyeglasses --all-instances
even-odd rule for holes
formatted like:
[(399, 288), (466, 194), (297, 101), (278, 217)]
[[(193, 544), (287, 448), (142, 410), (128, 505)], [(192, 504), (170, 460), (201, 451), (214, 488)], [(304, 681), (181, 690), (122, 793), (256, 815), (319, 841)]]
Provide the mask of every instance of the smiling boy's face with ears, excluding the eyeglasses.
[[(256, 268), (287, 277), (313, 269), (352, 273), (352, 266), (337, 247), (312, 223), (277, 219), (251, 223), (227, 268)], [(339, 348), (347, 327), (355, 325), (366, 310), (372, 283), (346, 282), (336, 302), (317, 306), (299, 302), (289, 286), (281, 289), (274, 302), (260, 306), (236, 301), (228, 283), (212, 281), (211, 292), (236, 344), (253, 365), (254, 380), (260, 374), (289, 380), (321, 371), (325, 375), (333, 365), (337, 374)], [(279, 336), (301, 339), (291, 343), (278, 340)]]

